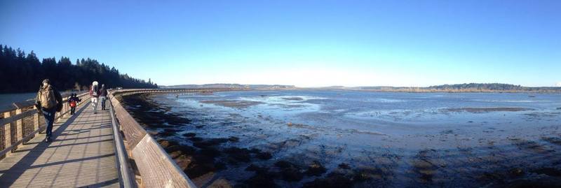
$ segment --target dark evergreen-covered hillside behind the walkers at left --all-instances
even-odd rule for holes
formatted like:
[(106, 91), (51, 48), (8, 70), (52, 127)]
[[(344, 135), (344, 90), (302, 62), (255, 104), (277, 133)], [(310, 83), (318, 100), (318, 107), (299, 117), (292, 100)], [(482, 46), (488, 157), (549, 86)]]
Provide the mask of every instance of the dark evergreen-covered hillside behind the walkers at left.
[(111, 87), (157, 88), (151, 80), (144, 81), (122, 74), (115, 67), (95, 59), (76, 59), (72, 64), (68, 57), (39, 58), (33, 51), (25, 54), (0, 45), (0, 93), (36, 92), (41, 81), (48, 78), (59, 90), (88, 89), (94, 80)]

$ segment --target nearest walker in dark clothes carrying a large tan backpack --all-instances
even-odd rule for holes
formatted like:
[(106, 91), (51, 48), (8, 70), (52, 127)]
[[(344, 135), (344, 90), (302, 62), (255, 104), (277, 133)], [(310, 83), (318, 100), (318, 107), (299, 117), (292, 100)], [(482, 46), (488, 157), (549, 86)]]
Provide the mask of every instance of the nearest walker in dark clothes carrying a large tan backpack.
[(62, 96), (60, 93), (50, 85), (50, 80), (45, 79), (39, 87), (39, 92), (35, 98), (35, 107), (45, 117), (45, 124), (47, 125), (47, 136), (45, 142), (50, 142), (50, 136), (53, 135), (53, 123), (55, 122), (55, 113), (62, 110)]

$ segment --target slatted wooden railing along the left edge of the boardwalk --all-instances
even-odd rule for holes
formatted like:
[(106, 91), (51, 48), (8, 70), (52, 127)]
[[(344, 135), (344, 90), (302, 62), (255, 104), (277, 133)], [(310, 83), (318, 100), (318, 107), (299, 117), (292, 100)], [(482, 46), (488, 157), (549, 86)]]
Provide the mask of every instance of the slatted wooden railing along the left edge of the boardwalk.
[[(82, 99), (81, 103), (88, 101), (86, 96), (86, 93), (78, 96)], [(69, 96), (63, 96), (62, 110), (56, 113), (55, 121), (69, 113), (68, 99)], [(44, 119), (34, 107), (34, 103), (34, 100), (13, 103), (13, 107), (0, 111), (4, 114), (4, 117), (0, 119), (0, 159), (4, 159), (6, 154), (11, 154), (18, 146), (34, 138), (39, 131), (45, 129)]]

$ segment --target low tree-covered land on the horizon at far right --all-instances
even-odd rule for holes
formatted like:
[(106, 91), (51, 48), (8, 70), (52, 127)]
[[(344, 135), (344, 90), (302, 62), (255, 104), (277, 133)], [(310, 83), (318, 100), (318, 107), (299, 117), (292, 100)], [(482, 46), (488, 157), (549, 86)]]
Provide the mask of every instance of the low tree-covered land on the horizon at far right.
[(523, 87), (500, 83), (469, 83), (430, 87), (351, 87), (347, 89), (380, 92), (561, 92), (561, 87)]

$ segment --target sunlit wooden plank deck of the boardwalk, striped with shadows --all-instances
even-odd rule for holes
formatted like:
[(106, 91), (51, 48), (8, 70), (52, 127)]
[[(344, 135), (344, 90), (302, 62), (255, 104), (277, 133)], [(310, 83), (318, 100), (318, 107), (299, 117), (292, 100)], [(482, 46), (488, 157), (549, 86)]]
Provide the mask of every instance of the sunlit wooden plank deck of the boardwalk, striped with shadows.
[[(0, 187), (119, 187), (109, 111), (85, 103), (0, 161)], [(87, 108), (85, 108), (87, 107)]]

